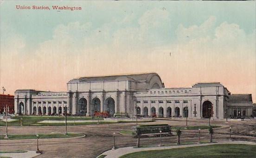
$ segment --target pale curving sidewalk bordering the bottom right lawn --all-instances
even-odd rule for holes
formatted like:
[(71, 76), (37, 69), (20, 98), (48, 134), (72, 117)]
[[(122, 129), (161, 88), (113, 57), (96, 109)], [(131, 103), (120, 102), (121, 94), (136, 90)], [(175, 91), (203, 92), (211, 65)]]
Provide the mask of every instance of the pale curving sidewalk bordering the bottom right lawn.
[(175, 148), (184, 148), (184, 147), (193, 147), (193, 146), (209, 146), (209, 145), (216, 145), (216, 144), (248, 144), (248, 145), (256, 145), (256, 143), (254, 143), (254, 142), (247, 142), (247, 141), (221, 141), (221, 142), (217, 142), (217, 143), (190, 144), (190, 145), (180, 145), (180, 146), (162, 146), (162, 147), (147, 147), (147, 148), (124, 147), (124, 148), (119, 148), (119, 149), (116, 149), (116, 150), (109, 150), (109, 151), (103, 152), (101, 155), (107, 155), (105, 158), (119, 158), (122, 155), (125, 155), (125, 154), (128, 154), (128, 153), (132, 153), (132, 152), (141, 152), (141, 151), (150, 151), (150, 150), (164, 150), (164, 149), (175, 149)]

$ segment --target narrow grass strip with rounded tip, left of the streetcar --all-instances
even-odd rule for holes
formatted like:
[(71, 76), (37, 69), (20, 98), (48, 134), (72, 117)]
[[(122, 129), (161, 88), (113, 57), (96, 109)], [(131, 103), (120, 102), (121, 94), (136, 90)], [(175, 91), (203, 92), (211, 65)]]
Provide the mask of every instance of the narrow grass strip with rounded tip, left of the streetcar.
[[(51, 138), (73, 138), (80, 137), (83, 134), (38, 134), (39, 139), (51, 139)], [(4, 139), (5, 135), (0, 135), (0, 140), (31, 140), (37, 139), (36, 134), (22, 134), (22, 135), (8, 135), (9, 139)]]

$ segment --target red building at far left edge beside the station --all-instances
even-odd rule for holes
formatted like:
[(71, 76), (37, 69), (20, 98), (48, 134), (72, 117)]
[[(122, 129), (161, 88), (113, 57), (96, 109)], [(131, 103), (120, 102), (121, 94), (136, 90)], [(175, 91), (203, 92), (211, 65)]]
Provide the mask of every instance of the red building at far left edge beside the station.
[(9, 113), (14, 114), (14, 96), (0, 94), (0, 113), (3, 114), (4, 107), (9, 106)]

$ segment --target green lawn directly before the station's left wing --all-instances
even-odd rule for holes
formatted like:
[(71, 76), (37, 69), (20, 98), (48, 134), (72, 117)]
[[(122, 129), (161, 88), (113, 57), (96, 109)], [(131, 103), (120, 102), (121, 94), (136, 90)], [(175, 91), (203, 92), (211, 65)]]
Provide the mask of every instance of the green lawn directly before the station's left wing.
[[(64, 121), (64, 116), (15, 116), (13, 119), (17, 119), (18, 121), (14, 122), (8, 122), (8, 126), (21, 126), (20, 120), (22, 118), (22, 126), (64, 126), (65, 123), (38, 123), (41, 121), (51, 121), (51, 120), (57, 120), (57, 121)], [(91, 120), (91, 117), (67, 117), (68, 121), (73, 120)], [(97, 120), (97, 118), (95, 118)], [(99, 120), (103, 120), (102, 118), (99, 118)], [(73, 125), (90, 125), (90, 124), (97, 124), (97, 123), (90, 123), (90, 122), (84, 122), (84, 123), (68, 123), (68, 126)], [(100, 123), (100, 124), (106, 124), (106, 123)], [(0, 121), (0, 126), (6, 126), (6, 122)]]

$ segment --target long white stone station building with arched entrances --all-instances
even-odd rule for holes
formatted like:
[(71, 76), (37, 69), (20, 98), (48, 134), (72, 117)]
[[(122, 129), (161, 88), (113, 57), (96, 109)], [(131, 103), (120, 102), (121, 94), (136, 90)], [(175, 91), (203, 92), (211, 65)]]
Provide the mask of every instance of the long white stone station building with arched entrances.
[[(157, 73), (82, 77), (67, 83), (67, 91), (16, 90), (15, 114), (91, 116), (107, 112), (156, 117), (215, 119), (253, 115), (251, 94), (232, 95), (220, 83), (165, 88)], [(137, 109), (137, 111), (136, 111)]]

